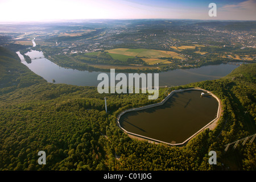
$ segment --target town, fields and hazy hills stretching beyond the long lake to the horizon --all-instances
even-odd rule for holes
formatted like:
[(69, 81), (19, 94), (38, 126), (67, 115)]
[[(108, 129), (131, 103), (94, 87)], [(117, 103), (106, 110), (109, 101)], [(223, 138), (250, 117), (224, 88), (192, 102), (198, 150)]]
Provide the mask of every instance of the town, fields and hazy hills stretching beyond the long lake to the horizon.
[[(142, 19), (102, 20), (100, 23), (91, 20), (72, 23), (72, 26), (69, 23), (44, 26), (24, 26), (12, 31), (6, 31), (9, 25), (2, 26), (0, 44), (16, 51), (20, 47), (31, 47), (31, 40), (34, 40), (47, 59), (63, 67), (84, 70), (106, 71), (102, 64), (114, 64), (129, 65), (127, 69), (140, 69), (138, 65), (143, 65), (141, 69), (165, 71), (256, 60), (253, 22)], [(172, 54), (136, 55), (127, 57), (134, 59), (129, 62), (120, 58), (122, 53), (111, 53), (118, 48), (170, 51)], [(106, 54), (99, 52), (110, 55), (110, 59), (104, 63), (99, 61), (99, 55), (106, 60)], [(91, 60), (92, 57), (95, 59)], [(133, 68), (135, 64), (138, 68)]]

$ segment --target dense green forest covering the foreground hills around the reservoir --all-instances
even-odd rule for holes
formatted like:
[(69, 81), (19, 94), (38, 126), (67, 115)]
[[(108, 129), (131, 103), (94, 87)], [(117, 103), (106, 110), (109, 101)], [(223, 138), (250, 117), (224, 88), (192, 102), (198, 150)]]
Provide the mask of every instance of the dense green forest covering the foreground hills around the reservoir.
[[(242, 65), (218, 80), (161, 88), (158, 100), (148, 100), (147, 94), (99, 94), (95, 87), (48, 83), (0, 48), (0, 170), (255, 170), (255, 142), (224, 152), (225, 144), (256, 133), (255, 70), (256, 64)], [(118, 128), (122, 110), (189, 87), (221, 99), (216, 129), (171, 147), (131, 139)], [(217, 165), (208, 163), (212, 150)], [(45, 165), (37, 162), (39, 151), (46, 151)]]

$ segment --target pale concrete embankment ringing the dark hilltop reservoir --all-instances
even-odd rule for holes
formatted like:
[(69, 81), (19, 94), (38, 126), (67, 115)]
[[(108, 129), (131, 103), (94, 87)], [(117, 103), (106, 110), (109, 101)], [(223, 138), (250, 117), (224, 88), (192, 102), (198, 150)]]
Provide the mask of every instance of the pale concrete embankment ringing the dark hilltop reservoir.
[[(163, 141), (160, 141), (160, 140), (157, 140), (157, 139), (154, 139), (154, 138), (148, 138), (148, 137), (145, 137), (145, 136), (142, 136), (142, 135), (138, 135), (138, 134), (135, 134), (135, 133), (131, 133), (130, 131), (127, 131), (125, 129), (123, 129), (123, 127), (121, 127), (120, 123), (119, 123), (119, 119), (122, 117), (123, 114), (126, 114), (126, 113), (129, 113), (129, 112), (132, 112), (132, 111), (139, 111), (139, 110), (144, 110), (144, 109), (150, 109), (152, 107), (156, 107), (156, 106), (161, 106), (163, 105), (174, 93), (179, 93), (179, 92), (185, 92), (185, 91), (189, 91), (189, 90), (198, 90), (198, 91), (202, 91), (202, 92), (206, 92), (206, 93), (209, 93), (212, 97), (216, 98), (216, 100), (218, 101), (218, 110), (217, 110), (217, 115), (216, 115), (216, 118), (214, 118), (212, 121), (210, 121), (207, 125), (205, 125), (202, 129), (200, 129), (199, 131), (197, 131), (195, 134), (193, 134), (191, 137), (189, 137), (187, 140), (185, 140), (183, 143), (175, 143), (175, 144), (172, 144), (172, 143), (167, 143), (167, 142), (163, 142)], [(162, 100), (161, 102), (159, 103), (156, 103), (156, 104), (151, 104), (151, 105), (147, 105), (147, 106), (142, 106), (142, 107), (138, 107), (138, 108), (134, 108), (134, 109), (128, 109), (128, 110), (125, 110), (125, 111), (122, 111), (122, 113), (120, 113), (117, 117), (117, 125), (118, 127), (120, 127), (123, 131), (125, 131), (127, 134), (130, 134), (130, 135), (134, 135), (135, 137), (139, 137), (139, 138), (142, 138), (142, 139), (147, 139), (147, 140), (150, 140), (150, 141), (153, 141), (153, 142), (158, 142), (158, 143), (166, 143), (168, 145), (171, 145), (171, 146), (183, 146), (185, 143), (188, 142), (188, 140), (192, 139), (193, 137), (195, 137), (197, 134), (199, 134), (201, 131), (203, 131), (204, 129), (213, 129), (213, 126), (216, 126), (216, 123), (218, 121), (218, 119), (220, 118), (220, 113), (221, 113), (221, 101), (219, 100), (219, 98), (217, 96), (215, 96), (213, 93), (209, 92), (208, 90), (204, 90), (204, 89), (201, 89), (201, 88), (189, 88), (189, 89), (180, 89), (180, 90), (172, 90), (172, 92), (170, 94), (168, 94), (168, 96), (166, 98), (164, 98), (164, 100)], [(214, 124), (214, 125), (213, 125)]]

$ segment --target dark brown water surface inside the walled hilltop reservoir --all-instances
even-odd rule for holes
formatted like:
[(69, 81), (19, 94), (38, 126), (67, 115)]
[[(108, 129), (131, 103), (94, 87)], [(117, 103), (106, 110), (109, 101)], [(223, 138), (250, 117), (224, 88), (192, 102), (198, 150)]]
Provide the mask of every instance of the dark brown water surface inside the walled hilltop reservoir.
[(216, 98), (200, 96), (198, 90), (175, 93), (162, 106), (122, 115), (119, 123), (131, 133), (167, 143), (182, 143), (217, 115)]

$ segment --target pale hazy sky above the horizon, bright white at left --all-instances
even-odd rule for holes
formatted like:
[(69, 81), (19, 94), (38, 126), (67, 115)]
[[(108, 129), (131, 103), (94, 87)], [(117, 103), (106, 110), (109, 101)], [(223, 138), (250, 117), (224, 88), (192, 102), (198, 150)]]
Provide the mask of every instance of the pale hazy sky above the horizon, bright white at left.
[[(208, 15), (209, 3), (217, 16)], [(71, 19), (256, 20), (256, 0), (0, 0), (0, 22)]]

